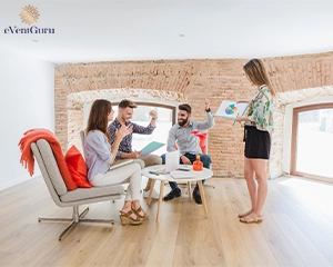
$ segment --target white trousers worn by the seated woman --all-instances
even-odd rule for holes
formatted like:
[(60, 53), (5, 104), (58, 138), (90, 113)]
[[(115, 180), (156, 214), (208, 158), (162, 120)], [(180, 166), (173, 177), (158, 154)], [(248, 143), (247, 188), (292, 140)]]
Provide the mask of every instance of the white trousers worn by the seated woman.
[(133, 162), (105, 174), (98, 174), (90, 184), (94, 187), (111, 186), (130, 182), (127, 190), (125, 200), (139, 200), (141, 188), (141, 167)]

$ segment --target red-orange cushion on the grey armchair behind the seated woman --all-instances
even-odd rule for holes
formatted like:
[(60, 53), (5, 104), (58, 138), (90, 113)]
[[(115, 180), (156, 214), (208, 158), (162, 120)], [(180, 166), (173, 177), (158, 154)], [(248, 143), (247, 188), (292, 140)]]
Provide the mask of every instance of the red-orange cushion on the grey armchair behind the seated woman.
[(91, 188), (92, 186), (89, 184), (87, 179), (87, 165), (85, 161), (79, 151), (79, 149), (73, 145), (67, 151), (64, 156), (64, 160), (67, 162), (67, 167), (71, 172), (73, 181), (78, 187)]

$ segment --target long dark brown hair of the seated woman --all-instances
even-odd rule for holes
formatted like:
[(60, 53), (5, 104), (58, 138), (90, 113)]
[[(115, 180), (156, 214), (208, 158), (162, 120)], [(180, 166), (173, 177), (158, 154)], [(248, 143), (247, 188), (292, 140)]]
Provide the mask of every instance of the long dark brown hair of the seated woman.
[(85, 135), (91, 130), (102, 131), (111, 141), (111, 136), (108, 131), (108, 116), (112, 110), (111, 102), (105, 99), (97, 99), (93, 101), (85, 129)]

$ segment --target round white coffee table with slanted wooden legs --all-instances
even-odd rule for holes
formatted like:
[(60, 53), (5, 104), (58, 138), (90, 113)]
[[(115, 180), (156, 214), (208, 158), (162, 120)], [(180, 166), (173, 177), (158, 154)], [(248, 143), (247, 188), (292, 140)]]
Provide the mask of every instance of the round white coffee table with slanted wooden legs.
[[(164, 181), (186, 182), (189, 185), (189, 199), (190, 199), (190, 201), (192, 201), (191, 182), (196, 181), (198, 185), (199, 185), (199, 190), (200, 190), (200, 196), (201, 196), (201, 199), (202, 199), (202, 207), (203, 207), (203, 210), (204, 210), (204, 215), (205, 215), (205, 218), (208, 218), (208, 210), (206, 210), (204, 191), (203, 191), (203, 187), (202, 187), (202, 180), (211, 178), (213, 176), (213, 171), (211, 169), (208, 169), (208, 168), (203, 168), (203, 170), (201, 170), (201, 171), (194, 171), (194, 170), (184, 171), (184, 172), (189, 172), (189, 175), (191, 175), (192, 177), (178, 178), (178, 179), (174, 179), (170, 174), (167, 174), (167, 175), (150, 174), (150, 171), (160, 171), (160, 170), (164, 169), (164, 167), (165, 167), (164, 165), (154, 165), (154, 166), (150, 166), (150, 167), (147, 167), (147, 168), (141, 170), (141, 174), (143, 176), (152, 179), (151, 188), (154, 188), (154, 185), (155, 185), (157, 180), (161, 181), (157, 221), (159, 221), (160, 207), (161, 207), (161, 202), (163, 200)], [(150, 205), (150, 202), (151, 202), (152, 191), (153, 190), (149, 191), (148, 201), (147, 201), (148, 205)]]

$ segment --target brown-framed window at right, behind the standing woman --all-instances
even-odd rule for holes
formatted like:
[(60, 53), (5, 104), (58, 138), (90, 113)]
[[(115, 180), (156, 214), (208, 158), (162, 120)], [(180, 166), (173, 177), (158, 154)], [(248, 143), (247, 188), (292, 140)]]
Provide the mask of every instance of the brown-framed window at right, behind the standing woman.
[(291, 174), (333, 181), (333, 103), (295, 108)]

